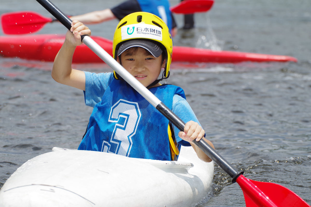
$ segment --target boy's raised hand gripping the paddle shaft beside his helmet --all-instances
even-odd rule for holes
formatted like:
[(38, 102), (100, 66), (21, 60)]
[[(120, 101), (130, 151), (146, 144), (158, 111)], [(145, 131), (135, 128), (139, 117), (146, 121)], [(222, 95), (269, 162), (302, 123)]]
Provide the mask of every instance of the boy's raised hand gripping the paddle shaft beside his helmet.
[(67, 43), (70, 43), (73, 46), (79, 46), (82, 44), (81, 35), (87, 34), (91, 36), (91, 30), (82, 22), (73, 20), (71, 26), (70, 31), (68, 30), (66, 33)]

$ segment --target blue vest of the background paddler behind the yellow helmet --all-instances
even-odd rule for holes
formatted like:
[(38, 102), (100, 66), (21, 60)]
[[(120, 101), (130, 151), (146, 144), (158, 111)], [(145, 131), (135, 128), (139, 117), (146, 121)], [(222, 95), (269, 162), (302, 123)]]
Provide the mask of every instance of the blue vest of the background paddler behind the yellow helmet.
[(142, 11), (149, 12), (159, 16), (169, 28), (169, 31), (172, 30), (172, 14), (169, 10), (169, 1), (168, 0), (137, 0)]

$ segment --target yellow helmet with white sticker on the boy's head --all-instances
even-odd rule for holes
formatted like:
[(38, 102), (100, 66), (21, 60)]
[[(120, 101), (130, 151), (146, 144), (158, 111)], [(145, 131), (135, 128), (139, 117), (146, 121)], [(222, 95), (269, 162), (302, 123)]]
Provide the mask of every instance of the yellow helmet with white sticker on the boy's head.
[[(125, 42), (127, 42), (126, 46), (123, 44)], [(146, 45), (146, 42), (149, 45)], [(147, 46), (144, 48), (149, 50), (153, 56), (157, 56), (156, 50), (159, 49), (159, 47), (157, 47), (159, 43), (163, 47), (165, 53), (166, 62), (164, 76), (167, 78), (169, 75), (169, 65), (171, 64), (173, 50), (173, 41), (172, 36), (169, 33), (169, 28), (160, 17), (154, 14), (148, 12), (135, 12), (125, 16), (117, 25), (114, 32), (112, 49), (113, 57), (117, 60), (117, 56), (127, 48), (134, 46), (144, 47), (143, 45)], [(121, 45), (123, 48), (120, 48)], [(162, 51), (161, 48), (160, 51)], [(114, 77), (116, 79), (119, 78), (115, 71)]]

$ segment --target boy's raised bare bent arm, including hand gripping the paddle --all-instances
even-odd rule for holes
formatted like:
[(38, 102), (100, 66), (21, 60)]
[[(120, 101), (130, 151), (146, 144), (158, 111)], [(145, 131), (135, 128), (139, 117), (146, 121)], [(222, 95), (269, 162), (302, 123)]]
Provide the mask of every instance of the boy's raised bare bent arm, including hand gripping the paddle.
[(74, 20), (71, 31), (67, 31), (65, 42), (55, 57), (51, 74), (58, 83), (81, 90), (85, 90), (85, 74), (83, 71), (72, 69), (71, 63), (76, 46), (82, 44), (83, 34), (91, 35), (91, 30)]

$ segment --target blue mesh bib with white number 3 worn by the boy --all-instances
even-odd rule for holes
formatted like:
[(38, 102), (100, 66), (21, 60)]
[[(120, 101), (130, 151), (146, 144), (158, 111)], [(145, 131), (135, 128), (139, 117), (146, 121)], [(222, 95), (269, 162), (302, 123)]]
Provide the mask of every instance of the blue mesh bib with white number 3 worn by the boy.
[[(149, 90), (170, 109), (174, 94), (185, 98), (183, 89), (174, 85)], [(94, 106), (78, 150), (171, 160), (168, 125), (169, 120), (128, 83), (113, 79)]]

